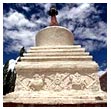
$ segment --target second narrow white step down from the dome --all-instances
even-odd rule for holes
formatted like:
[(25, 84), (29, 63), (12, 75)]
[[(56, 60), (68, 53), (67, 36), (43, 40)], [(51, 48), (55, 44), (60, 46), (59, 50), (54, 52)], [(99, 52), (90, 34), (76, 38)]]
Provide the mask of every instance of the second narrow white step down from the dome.
[(85, 52), (84, 48), (79, 48), (79, 49), (44, 49), (44, 50), (28, 50), (27, 53), (67, 53), (67, 52)]

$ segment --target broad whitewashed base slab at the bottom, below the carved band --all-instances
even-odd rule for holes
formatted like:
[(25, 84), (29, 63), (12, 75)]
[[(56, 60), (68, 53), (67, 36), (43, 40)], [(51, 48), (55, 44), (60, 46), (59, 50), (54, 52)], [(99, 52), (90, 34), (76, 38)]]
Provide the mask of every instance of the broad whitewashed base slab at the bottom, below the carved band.
[[(53, 107), (107, 107), (107, 97), (103, 91), (63, 90), (63, 91), (14, 91), (3, 96), (8, 106), (53, 106)], [(102, 98), (100, 100), (96, 98)], [(18, 105), (17, 105), (18, 104)], [(38, 104), (38, 105), (37, 105)], [(65, 105), (66, 104), (66, 105)], [(101, 104), (101, 105), (100, 105)], [(103, 105), (104, 104), (104, 105)]]

